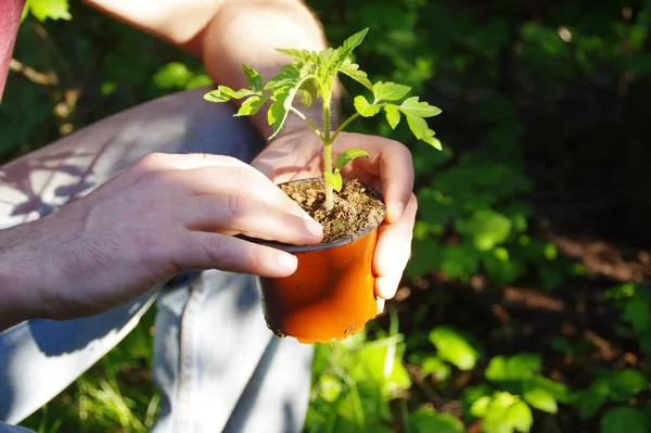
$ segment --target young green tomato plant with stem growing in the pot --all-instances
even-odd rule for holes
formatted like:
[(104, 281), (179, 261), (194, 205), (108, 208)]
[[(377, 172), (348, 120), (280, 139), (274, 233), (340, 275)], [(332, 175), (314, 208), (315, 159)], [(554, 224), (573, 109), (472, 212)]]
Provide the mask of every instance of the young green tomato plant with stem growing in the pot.
[[(417, 139), (441, 149), (439, 141), (434, 138), (434, 131), (429, 128), (424, 119), (438, 115), (441, 113), (438, 107), (419, 101), (418, 97), (405, 99), (411, 90), (408, 86), (382, 81), (371, 84), (367, 74), (359, 69), (359, 65), (350, 61), (353, 50), (363, 41), (368, 30), (366, 28), (356, 33), (336, 49), (328, 48), (320, 52), (278, 49), (279, 52), (290, 55), (293, 62), (265, 86), (263, 86), (263, 77), (255, 69), (243, 64), (248, 89), (233, 90), (227, 86), (219, 86), (204, 95), (204, 99), (210, 102), (228, 102), (231, 99), (246, 98), (235, 114), (237, 116), (254, 115), (267, 102), (271, 102), (267, 112), (267, 120), (273, 130), (270, 138), (278, 135), (290, 112), (305, 120), (323, 144), (323, 177), (326, 178), (326, 207), (328, 209), (333, 206), (333, 190), (340, 191), (342, 188), (341, 170), (354, 158), (369, 156), (363, 150), (350, 149), (339, 155), (334, 167), (332, 164), (332, 143), (340, 132), (357, 117), (372, 117), (384, 110), (388, 125), (395, 129), (404, 115)], [(331, 131), (332, 91), (340, 73), (372, 91), (373, 101), (369, 102), (363, 95), (356, 97), (356, 112), (339, 128)], [(301, 100), (302, 106), (307, 107), (321, 101), (322, 130), (307, 118), (299, 107), (294, 105), (296, 97)], [(398, 101), (401, 103), (398, 104)]]

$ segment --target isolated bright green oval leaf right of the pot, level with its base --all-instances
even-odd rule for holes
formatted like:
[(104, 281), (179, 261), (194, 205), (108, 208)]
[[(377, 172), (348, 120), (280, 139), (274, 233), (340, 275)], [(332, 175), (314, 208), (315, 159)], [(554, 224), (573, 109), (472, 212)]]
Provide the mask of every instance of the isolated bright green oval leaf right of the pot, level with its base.
[(470, 339), (450, 327), (437, 327), (430, 332), (430, 342), (438, 351), (438, 357), (460, 370), (472, 370), (480, 357)]

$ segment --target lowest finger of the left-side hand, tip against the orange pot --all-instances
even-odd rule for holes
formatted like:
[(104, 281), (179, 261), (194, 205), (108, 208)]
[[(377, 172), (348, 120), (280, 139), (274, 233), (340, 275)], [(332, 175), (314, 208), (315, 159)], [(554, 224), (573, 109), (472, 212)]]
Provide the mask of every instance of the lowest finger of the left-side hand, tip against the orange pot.
[(296, 257), (270, 246), (204, 231), (187, 231), (176, 243), (175, 263), (188, 269), (221, 269), (261, 277), (289, 277), (296, 270)]

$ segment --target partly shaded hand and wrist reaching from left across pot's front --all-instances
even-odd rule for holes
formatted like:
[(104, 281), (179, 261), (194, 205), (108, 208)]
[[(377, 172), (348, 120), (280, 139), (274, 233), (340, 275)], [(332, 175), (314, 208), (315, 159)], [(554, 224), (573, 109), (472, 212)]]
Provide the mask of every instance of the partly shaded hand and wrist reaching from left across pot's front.
[(265, 277), (296, 269), (293, 255), (233, 234), (294, 244), (322, 237), (261, 173), (205, 154), (149, 155), (87, 196), (4, 231), (14, 242), (0, 259), (34, 291), (38, 316), (54, 319), (114, 308), (183, 268)]

